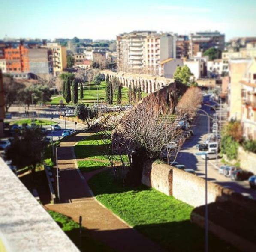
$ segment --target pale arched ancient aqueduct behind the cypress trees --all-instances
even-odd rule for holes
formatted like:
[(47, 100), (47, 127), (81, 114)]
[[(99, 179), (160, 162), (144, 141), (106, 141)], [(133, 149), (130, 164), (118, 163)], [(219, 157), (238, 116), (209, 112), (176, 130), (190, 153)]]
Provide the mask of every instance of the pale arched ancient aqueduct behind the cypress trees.
[(167, 79), (164, 77), (159, 76), (152, 76), (148, 74), (133, 74), (133, 73), (126, 73), (126, 72), (112, 72), (110, 70), (103, 70), (101, 73), (106, 77), (109, 76), (109, 80), (116, 77), (117, 80), (122, 83), (122, 86), (128, 87), (131, 85), (133, 88), (134, 86), (138, 87), (141, 85), (142, 92), (145, 93), (152, 93), (157, 90), (162, 89), (164, 86), (167, 86), (170, 83), (173, 83), (173, 79)]

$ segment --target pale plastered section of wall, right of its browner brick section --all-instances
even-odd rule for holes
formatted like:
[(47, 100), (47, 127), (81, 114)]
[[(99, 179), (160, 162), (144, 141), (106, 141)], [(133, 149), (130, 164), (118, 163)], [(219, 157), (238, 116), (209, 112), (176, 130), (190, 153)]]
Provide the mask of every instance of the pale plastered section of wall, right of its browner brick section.
[[(208, 203), (222, 194), (220, 185), (207, 183)], [(194, 207), (205, 204), (205, 179), (177, 168), (172, 169), (172, 196)]]

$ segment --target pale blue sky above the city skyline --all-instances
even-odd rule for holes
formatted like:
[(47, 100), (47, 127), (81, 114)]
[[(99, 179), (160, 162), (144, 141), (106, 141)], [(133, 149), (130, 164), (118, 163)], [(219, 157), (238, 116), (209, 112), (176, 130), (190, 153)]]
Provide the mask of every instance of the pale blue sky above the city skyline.
[(0, 0), (0, 39), (116, 39), (133, 30), (256, 36), (256, 0)]

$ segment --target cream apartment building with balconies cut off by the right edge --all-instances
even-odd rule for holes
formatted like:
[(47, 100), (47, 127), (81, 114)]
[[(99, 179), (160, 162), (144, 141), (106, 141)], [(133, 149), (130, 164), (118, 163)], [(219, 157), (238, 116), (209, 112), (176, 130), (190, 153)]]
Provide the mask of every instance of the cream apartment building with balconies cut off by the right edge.
[(246, 76), (240, 81), (241, 124), (244, 137), (256, 140), (256, 59), (249, 64)]

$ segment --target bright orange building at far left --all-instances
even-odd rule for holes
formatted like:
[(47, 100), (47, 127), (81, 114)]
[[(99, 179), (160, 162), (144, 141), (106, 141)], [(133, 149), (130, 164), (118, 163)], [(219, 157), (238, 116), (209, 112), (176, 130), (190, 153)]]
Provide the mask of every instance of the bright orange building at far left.
[(29, 72), (28, 49), (23, 45), (20, 44), (17, 48), (6, 48), (4, 56), (7, 73)]

